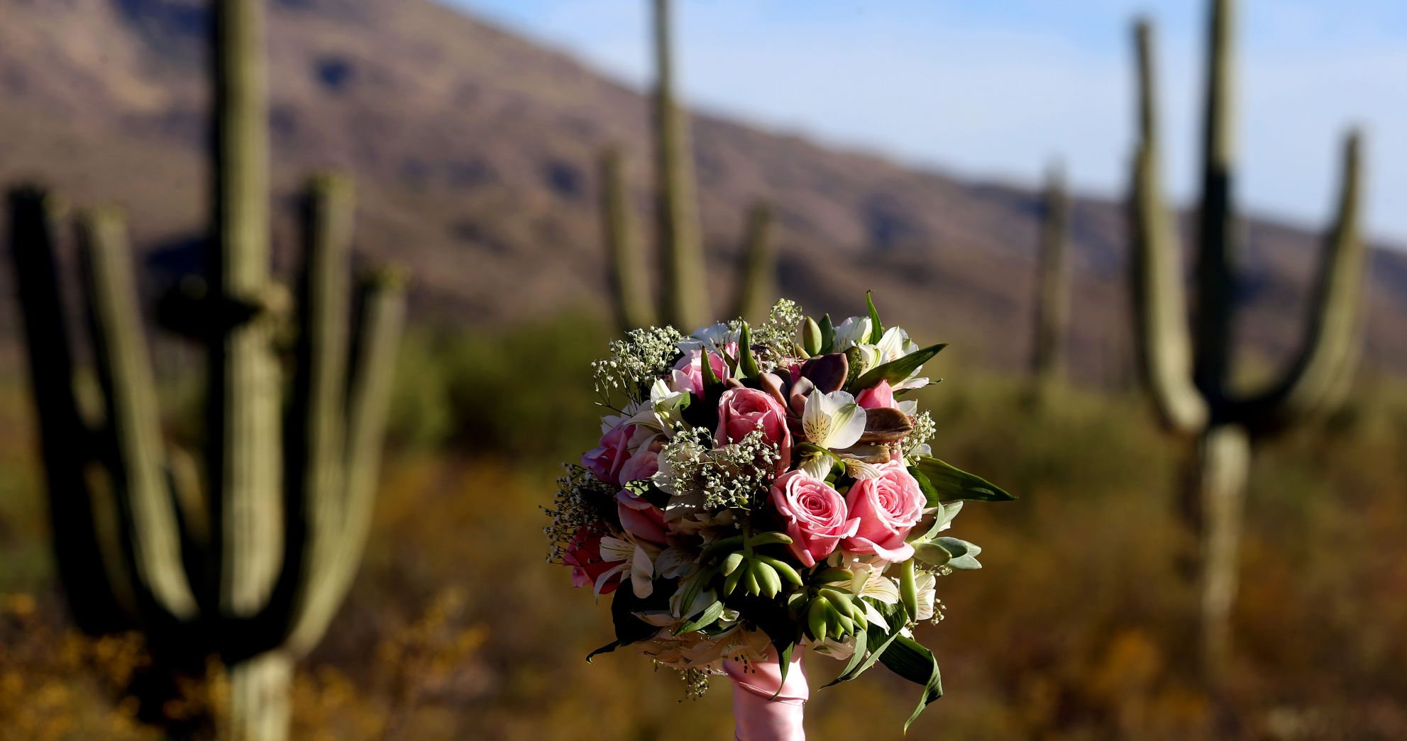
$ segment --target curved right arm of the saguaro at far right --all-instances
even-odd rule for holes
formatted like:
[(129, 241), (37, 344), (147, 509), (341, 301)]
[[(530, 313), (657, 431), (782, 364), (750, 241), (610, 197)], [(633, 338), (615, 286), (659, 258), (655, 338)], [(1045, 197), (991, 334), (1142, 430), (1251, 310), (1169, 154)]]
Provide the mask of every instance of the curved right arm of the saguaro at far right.
[(1362, 285), (1368, 247), (1361, 233), (1362, 136), (1344, 143), (1342, 183), (1334, 226), (1325, 238), (1304, 344), (1285, 377), (1247, 402), (1258, 427), (1331, 411), (1351, 385), (1362, 344)]

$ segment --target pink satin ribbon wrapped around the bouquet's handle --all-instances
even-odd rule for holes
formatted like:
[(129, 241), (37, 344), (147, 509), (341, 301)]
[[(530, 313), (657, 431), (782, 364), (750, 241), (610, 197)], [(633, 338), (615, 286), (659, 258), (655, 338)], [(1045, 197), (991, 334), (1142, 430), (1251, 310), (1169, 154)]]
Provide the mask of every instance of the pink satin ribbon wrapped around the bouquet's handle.
[(805, 741), (801, 720), (810, 688), (801, 668), (801, 655), (802, 650), (796, 648), (787, 683), (782, 683), (781, 665), (771, 654), (764, 661), (723, 662), (723, 671), (733, 681), (733, 733), (737, 741)]

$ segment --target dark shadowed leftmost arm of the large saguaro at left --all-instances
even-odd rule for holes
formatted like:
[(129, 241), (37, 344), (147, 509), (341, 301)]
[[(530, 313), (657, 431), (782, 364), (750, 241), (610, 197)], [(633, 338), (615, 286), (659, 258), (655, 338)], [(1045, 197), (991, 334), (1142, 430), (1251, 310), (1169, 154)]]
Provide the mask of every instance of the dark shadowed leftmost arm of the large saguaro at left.
[(114, 633), (129, 627), (129, 621), (103, 568), (97, 513), (83, 477), (93, 456), (91, 433), (73, 389), (73, 356), (53, 243), (58, 208), (38, 187), (18, 187), (10, 191), (8, 201), (14, 288), (28, 347), (59, 582), (80, 630)]

